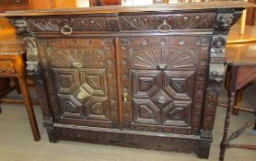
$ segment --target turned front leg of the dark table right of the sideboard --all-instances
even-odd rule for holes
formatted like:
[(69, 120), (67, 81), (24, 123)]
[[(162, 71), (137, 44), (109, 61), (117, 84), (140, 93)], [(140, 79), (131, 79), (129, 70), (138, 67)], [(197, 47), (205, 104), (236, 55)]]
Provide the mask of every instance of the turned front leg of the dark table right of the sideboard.
[(219, 155), (220, 161), (224, 160), (224, 155), (225, 155), (225, 151), (227, 148), (227, 134), (228, 134), (228, 128), (229, 128), (230, 119), (231, 119), (231, 115), (232, 115), (232, 109), (235, 106), (235, 97), (236, 97), (236, 92), (231, 92), (228, 96), (227, 115), (226, 115), (226, 120), (225, 120), (223, 139), (220, 144), (220, 155)]

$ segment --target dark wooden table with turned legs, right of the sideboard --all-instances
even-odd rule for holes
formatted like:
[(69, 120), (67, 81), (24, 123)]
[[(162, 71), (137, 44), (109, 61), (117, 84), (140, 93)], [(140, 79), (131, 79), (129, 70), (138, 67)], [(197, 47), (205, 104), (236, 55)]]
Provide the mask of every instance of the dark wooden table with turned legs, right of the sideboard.
[[(254, 123), (253, 129), (256, 130), (256, 107), (249, 109), (236, 106), (236, 103), (240, 102), (241, 99), (241, 89), (250, 84), (250, 82), (256, 78), (256, 45), (253, 42), (236, 45), (234, 44), (229, 47), (227, 46), (226, 53), (228, 54), (226, 54), (227, 75), (225, 86), (227, 88), (228, 104), (227, 106), (221, 105), (227, 107), (223, 140), (220, 145), (221, 153), (219, 160), (221, 161), (224, 160), (227, 147), (241, 147), (256, 150), (256, 144), (230, 144), (233, 139), (239, 137), (240, 133), (242, 133), (246, 128), (250, 127), (251, 124)], [(243, 110), (253, 113), (254, 116), (236, 132), (233, 132), (230, 134), (230, 136), (227, 136), (232, 110)]]

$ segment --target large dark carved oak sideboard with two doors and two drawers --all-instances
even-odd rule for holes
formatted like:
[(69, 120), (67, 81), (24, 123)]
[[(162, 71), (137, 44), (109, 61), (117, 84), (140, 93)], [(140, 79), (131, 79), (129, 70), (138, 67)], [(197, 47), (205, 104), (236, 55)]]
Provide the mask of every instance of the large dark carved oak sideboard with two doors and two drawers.
[(27, 41), (50, 142), (207, 158), (228, 29), (250, 4), (215, 1), (6, 12)]

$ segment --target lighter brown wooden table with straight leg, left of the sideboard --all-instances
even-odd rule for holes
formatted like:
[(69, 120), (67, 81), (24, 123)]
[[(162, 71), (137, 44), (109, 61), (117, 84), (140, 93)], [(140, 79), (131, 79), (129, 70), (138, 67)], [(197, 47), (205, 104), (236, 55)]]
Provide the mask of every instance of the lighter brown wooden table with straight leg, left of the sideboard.
[[(32, 107), (32, 101), (29, 96), (29, 86), (26, 81), (25, 70), (25, 50), (24, 42), (18, 40), (16, 37), (5, 37), (5, 41), (0, 41), (0, 78), (17, 78), (18, 89), (22, 94), (23, 101), (25, 103), (30, 127), (35, 141), (40, 141), (41, 136), (38, 129), (34, 109)], [(4, 85), (0, 85), (4, 86)], [(6, 89), (5, 94), (12, 90), (14, 86)], [(17, 103), (17, 100), (3, 100), (4, 95), (0, 96), (0, 103)], [(21, 101), (18, 101), (21, 102)]]

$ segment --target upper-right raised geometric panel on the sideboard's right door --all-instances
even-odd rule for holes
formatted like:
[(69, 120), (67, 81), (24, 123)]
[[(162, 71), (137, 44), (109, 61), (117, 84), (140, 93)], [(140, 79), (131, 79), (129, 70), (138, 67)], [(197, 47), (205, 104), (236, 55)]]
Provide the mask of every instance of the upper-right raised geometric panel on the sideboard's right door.
[(194, 71), (164, 71), (163, 88), (175, 99), (192, 99)]

